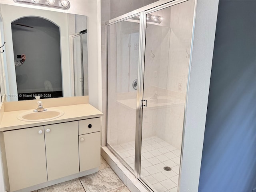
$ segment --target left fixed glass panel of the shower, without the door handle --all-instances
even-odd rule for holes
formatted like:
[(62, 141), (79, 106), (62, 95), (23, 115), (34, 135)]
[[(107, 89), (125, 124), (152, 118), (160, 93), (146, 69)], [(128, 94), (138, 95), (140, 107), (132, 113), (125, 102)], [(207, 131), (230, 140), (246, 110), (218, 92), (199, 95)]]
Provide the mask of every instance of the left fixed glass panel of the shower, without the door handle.
[(107, 26), (107, 144), (134, 170), (139, 22), (124, 20)]

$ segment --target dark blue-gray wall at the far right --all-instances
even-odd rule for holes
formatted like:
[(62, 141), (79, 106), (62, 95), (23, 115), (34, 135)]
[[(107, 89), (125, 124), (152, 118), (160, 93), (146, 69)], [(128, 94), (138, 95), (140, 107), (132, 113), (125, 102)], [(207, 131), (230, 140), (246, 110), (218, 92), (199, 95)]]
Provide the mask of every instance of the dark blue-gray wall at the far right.
[(256, 188), (256, 1), (220, 1), (200, 192)]

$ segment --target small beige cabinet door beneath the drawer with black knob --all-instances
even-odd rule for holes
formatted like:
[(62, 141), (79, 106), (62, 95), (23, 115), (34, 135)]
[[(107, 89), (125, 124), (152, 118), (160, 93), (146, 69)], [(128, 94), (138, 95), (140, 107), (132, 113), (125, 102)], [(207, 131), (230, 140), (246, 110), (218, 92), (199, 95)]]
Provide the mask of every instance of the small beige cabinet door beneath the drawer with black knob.
[(79, 136), (80, 171), (100, 166), (100, 132)]

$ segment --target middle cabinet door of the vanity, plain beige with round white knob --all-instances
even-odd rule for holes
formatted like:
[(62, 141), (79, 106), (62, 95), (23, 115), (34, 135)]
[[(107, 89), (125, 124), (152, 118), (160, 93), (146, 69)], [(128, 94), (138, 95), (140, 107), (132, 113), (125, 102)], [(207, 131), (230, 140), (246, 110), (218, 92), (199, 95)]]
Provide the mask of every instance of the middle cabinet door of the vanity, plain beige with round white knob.
[(48, 181), (79, 172), (78, 122), (44, 126)]

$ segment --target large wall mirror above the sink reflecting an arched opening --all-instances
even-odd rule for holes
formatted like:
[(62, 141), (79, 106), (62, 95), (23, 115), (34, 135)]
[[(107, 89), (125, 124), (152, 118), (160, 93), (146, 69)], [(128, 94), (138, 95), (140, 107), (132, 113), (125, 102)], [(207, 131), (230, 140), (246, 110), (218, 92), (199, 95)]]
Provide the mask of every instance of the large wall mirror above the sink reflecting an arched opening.
[(1, 4), (2, 101), (88, 95), (86, 19)]

